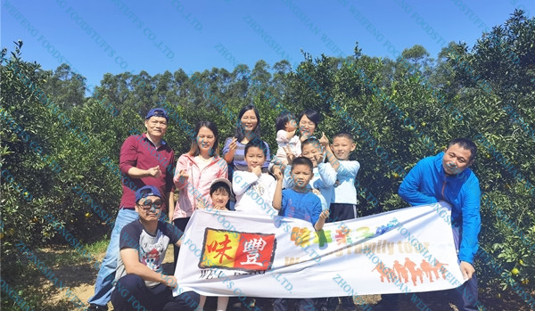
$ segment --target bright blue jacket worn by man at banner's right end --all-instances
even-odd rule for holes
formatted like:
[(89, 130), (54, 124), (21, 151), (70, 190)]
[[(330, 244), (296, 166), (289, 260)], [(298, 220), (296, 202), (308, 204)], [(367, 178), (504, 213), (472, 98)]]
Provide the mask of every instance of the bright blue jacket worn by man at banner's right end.
[(398, 194), (413, 206), (448, 201), (451, 225), (462, 228), (459, 260), (473, 264), (481, 228), (479, 180), (470, 168), (457, 176), (447, 176), (442, 167), (443, 156), (444, 152), (440, 152), (416, 163), (403, 179)]

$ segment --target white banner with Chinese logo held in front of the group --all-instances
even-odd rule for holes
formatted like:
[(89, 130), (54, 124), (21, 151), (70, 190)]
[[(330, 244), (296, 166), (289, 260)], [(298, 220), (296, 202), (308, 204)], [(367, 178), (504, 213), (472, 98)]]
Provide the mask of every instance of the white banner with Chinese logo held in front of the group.
[[(180, 292), (317, 298), (439, 291), (464, 282), (440, 203), (313, 226), (296, 218), (197, 210), (178, 257)], [(177, 294), (177, 291), (175, 292)]]

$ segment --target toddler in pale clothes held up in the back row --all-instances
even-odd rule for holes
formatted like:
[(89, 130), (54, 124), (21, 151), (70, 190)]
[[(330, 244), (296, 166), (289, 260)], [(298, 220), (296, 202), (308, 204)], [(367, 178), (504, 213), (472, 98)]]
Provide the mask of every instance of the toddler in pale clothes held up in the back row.
[(283, 111), (276, 117), (276, 163), (288, 164), (287, 151), (291, 151), (294, 157), (300, 156), (300, 139), (295, 135), (296, 129), (297, 119), (292, 113)]

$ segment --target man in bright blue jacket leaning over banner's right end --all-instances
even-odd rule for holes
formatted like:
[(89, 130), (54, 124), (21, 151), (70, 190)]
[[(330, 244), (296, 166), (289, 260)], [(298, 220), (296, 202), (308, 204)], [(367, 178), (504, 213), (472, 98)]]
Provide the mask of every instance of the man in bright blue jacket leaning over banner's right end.
[[(465, 280), (452, 292), (459, 310), (477, 310), (477, 278), (473, 257), (478, 249), (477, 235), (481, 228), (479, 180), (469, 168), (477, 154), (475, 143), (466, 138), (449, 142), (446, 151), (418, 161), (403, 183), (399, 196), (410, 205), (446, 201), (451, 205), (451, 229)], [(387, 295), (385, 295), (387, 296)], [(391, 310), (395, 309), (395, 300)], [(385, 301), (386, 302), (386, 301)]]

